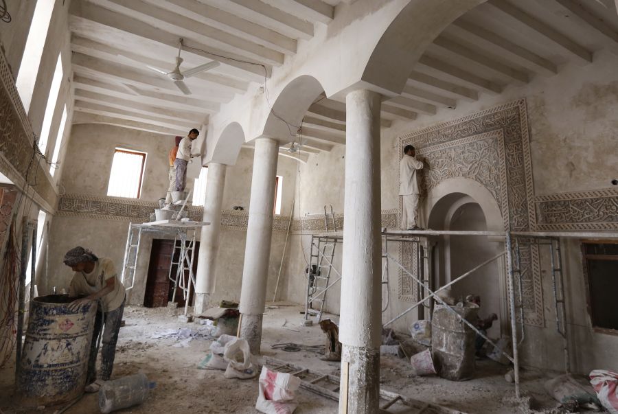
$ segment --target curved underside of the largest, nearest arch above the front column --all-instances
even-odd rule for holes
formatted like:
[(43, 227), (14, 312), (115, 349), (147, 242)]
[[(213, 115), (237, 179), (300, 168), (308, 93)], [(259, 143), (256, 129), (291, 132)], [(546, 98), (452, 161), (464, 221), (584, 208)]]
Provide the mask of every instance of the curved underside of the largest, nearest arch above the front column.
[(450, 23), (487, 0), (410, 1), (369, 57), (362, 80), (399, 94), (425, 49)]

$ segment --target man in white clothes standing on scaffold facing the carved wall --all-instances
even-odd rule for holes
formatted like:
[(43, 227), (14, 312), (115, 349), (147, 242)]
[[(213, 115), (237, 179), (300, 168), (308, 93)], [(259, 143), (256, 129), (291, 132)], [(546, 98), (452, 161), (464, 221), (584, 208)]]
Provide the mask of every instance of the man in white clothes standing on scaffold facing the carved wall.
[(415, 157), (414, 147), (407, 145), (399, 162), (399, 195), (402, 196), (401, 229), (421, 230), (418, 226), (418, 201), (420, 197), (417, 171), (423, 162)]

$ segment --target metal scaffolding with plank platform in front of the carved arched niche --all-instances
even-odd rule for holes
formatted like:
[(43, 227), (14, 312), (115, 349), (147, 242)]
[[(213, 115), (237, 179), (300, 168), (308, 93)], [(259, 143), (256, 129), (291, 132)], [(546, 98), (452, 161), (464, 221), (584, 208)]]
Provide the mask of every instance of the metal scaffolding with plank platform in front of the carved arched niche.
[[(515, 382), (515, 395), (516, 398), (520, 398), (520, 378), (519, 378), (519, 354), (518, 347), (522, 345), (525, 339), (525, 321), (524, 321), (524, 309), (523, 309), (523, 292), (522, 292), (522, 268), (521, 268), (521, 248), (520, 246), (532, 246), (536, 245), (540, 246), (549, 246), (549, 255), (550, 255), (550, 266), (551, 266), (551, 277), (552, 277), (552, 288), (553, 288), (553, 303), (556, 314), (556, 332), (562, 336), (563, 339), (563, 351), (564, 351), (564, 370), (569, 373), (571, 370), (570, 363), (570, 355), (569, 355), (569, 337), (567, 332), (567, 310), (566, 310), (566, 297), (564, 295), (564, 265), (562, 263), (562, 247), (561, 240), (562, 239), (597, 239), (597, 240), (610, 240), (617, 239), (618, 232), (614, 231), (451, 231), (451, 230), (387, 230), (382, 229), (382, 242), (385, 244), (385, 249), (382, 249), (382, 257), (387, 257), (388, 260), (393, 261), (404, 273), (407, 273), (415, 283), (422, 289), (424, 292), (424, 297), (417, 301), (413, 306), (399, 314), (397, 317), (391, 319), (387, 323), (384, 323), (383, 326), (389, 325), (396, 321), (400, 317), (403, 317), (405, 314), (411, 312), (411, 310), (417, 308), (418, 306), (423, 306), (424, 308), (428, 308), (429, 315), (433, 313), (433, 298), (435, 301), (439, 302), (442, 306), (444, 306), (449, 312), (455, 314), (457, 319), (461, 320), (464, 324), (468, 325), (470, 329), (472, 329), (476, 334), (485, 339), (490, 345), (494, 345), (496, 349), (501, 352), (508, 360), (513, 363), (513, 371), (514, 371), (514, 382)], [(448, 284), (438, 288), (437, 290), (431, 289), (431, 250), (433, 250), (433, 245), (429, 243), (429, 238), (432, 236), (439, 235), (484, 235), (492, 238), (496, 238), (499, 240), (504, 240), (505, 243), (505, 251), (491, 257), (485, 262), (482, 262), (478, 266), (475, 266), (470, 271), (464, 273), (463, 275), (459, 275), (455, 279), (451, 280)], [(343, 232), (336, 233), (316, 233), (312, 234), (312, 243), (314, 238), (321, 237), (329, 237), (336, 238), (339, 242), (343, 243)], [(387, 244), (388, 242), (412, 242), (417, 243), (417, 275), (416, 277), (410, 271), (408, 271), (396, 258), (393, 257), (390, 253), (388, 253)], [(423, 253), (426, 251), (426, 254)], [(452, 286), (453, 284), (461, 281), (465, 277), (472, 275), (475, 271), (479, 270), (483, 266), (493, 262), (494, 260), (498, 260), (500, 257), (506, 256), (505, 264), (506, 264), (506, 279), (507, 279), (507, 295), (508, 295), (508, 308), (509, 308), (509, 319), (510, 319), (510, 330), (511, 330), (511, 338), (512, 338), (512, 356), (504, 352), (500, 349), (488, 336), (483, 334), (477, 327), (474, 327), (472, 323), (467, 321), (464, 317), (459, 315), (452, 306), (449, 306), (447, 303), (438, 297), (437, 292)], [(334, 284), (338, 283), (342, 279), (341, 273), (336, 271), (332, 262), (326, 260), (328, 265), (333, 267), (339, 278), (332, 282), (329, 286), (327, 286), (322, 292), (321, 295), (325, 294), (326, 290), (334, 286)], [(517, 275), (518, 280), (518, 289), (516, 292), (515, 289), (515, 278)], [(388, 277), (388, 276), (387, 276)], [(382, 282), (384, 277), (382, 277)], [(516, 293), (518, 296), (519, 306), (516, 301)], [(427, 303), (429, 302), (429, 303)], [(516, 310), (519, 310), (519, 315), (517, 317)], [(519, 321), (519, 331), (520, 336), (518, 336), (518, 321)]]

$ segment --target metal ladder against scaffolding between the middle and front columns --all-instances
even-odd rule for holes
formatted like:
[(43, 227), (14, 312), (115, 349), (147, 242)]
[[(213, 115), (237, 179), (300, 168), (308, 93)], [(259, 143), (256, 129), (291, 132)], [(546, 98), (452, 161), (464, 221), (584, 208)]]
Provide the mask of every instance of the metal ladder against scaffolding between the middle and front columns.
[[(326, 303), (326, 288), (330, 281), (332, 262), (334, 260), (336, 238), (328, 236), (311, 236), (311, 251), (309, 265), (306, 267), (307, 301), (305, 304), (305, 320), (316, 317), (319, 323)], [(323, 270), (325, 269), (325, 272)], [(319, 303), (319, 307), (316, 306)]]

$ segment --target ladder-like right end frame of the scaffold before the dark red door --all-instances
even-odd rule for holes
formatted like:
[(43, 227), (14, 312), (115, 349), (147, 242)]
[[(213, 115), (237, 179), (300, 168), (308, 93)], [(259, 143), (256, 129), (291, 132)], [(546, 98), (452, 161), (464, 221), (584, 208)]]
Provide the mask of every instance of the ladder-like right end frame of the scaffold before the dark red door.
[[(183, 299), (185, 299), (185, 315), (187, 314), (187, 308), (189, 306), (189, 298), (191, 296), (191, 287), (195, 288), (195, 275), (193, 274), (193, 260), (195, 252), (195, 236), (196, 231), (193, 232), (193, 237), (187, 244), (187, 231), (185, 229), (179, 229), (174, 238), (174, 249), (172, 250), (172, 262), (170, 263), (170, 271), (168, 277), (174, 282), (172, 302), (176, 301), (176, 288), (180, 288), (183, 291)], [(177, 255), (176, 255), (177, 253)], [(174, 257), (178, 257), (177, 261), (174, 261)], [(172, 268), (176, 265), (176, 275), (172, 275)], [(185, 281), (185, 271), (189, 271), (189, 278)]]

